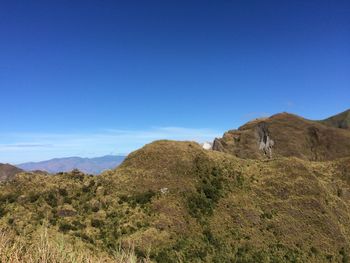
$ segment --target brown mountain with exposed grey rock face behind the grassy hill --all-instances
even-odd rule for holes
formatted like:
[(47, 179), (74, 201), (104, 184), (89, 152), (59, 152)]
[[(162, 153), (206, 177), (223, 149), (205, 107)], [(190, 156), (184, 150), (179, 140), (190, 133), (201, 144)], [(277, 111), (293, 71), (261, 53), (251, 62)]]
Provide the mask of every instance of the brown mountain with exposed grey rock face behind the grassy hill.
[(350, 130), (280, 113), (226, 132), (215, 139), (213, 149), (249, 159), (334, 160), (350, 155)]

